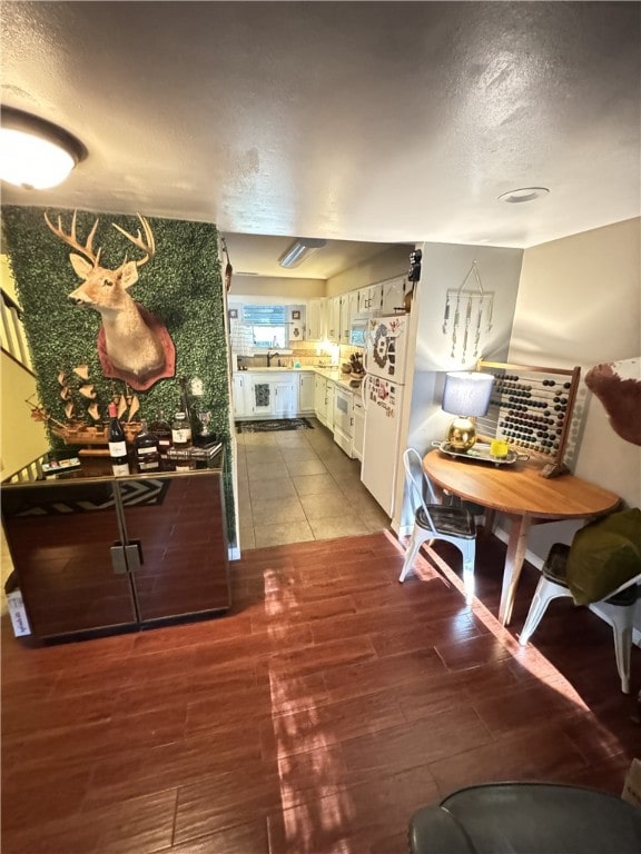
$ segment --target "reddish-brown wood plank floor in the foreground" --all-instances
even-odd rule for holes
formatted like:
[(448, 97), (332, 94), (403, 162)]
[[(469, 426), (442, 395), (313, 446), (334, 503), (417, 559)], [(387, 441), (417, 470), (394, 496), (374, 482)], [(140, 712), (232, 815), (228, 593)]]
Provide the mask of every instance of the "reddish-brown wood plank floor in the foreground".
[(558, 600), (521, 649), (538, 573), (502, 629), (503, 557), (480, 537), (473, 609), (424, 559), (400, 585), (378, 533), (247, 552), (216, 620), (29, 648), (3, 618), (2, 854), (402, 854), (475, 782), (620, 794), (641, 726), (610, 628)]

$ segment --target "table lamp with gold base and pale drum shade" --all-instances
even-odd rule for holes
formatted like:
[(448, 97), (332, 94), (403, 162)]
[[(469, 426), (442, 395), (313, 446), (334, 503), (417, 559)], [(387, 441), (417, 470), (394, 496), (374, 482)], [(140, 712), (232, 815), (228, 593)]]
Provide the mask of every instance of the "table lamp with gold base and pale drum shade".
[(481, 371), (452, 371), (445, 375), (441, 408), (456, 418), (447, 428), (446, 441), (466, 451), (476, 441), (474, 418), (487, 413), (494, 377)]

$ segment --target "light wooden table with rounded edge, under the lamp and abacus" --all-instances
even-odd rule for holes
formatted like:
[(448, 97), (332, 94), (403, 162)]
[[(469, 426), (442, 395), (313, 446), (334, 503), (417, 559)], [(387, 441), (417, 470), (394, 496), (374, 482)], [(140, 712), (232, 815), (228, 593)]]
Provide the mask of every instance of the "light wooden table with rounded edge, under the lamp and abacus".
[(423, 457), (423, 468), (434, 484), (461, 498), (505, 514), (510, 537), (499, 618), (506, 625), (534, 519), (591, 518), (613, 510), (620, 503), (614, 493), (574, 475), (544, 478), (525, 463), (495, 466), (450, 457), (436, 449)]

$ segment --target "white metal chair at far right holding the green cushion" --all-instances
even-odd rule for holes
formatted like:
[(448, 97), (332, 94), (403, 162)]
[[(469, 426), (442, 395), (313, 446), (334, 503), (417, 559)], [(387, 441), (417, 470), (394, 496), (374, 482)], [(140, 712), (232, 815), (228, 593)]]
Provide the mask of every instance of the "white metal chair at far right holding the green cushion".
[[(532, 604), (525, 618), (525, 625), (521, 632), (519, 643), (525, 646), (541, 622), (548, 605), (560, 596), (569, 596), (572, 593), (565, 582), (565, 565), (570, 546), (563, 543), (554, 543), (550, 548), (548, 559), (543, 565), (541, 578), (534, 590)], [(599, 603), (594, 603), (598, 613), (602, 614), (612, 626), (614, 634), (614, 654), (617, 656), (617, 669), (621, 677), (621, 691), (630, 694), (630, 653), (632, 649), (632, 628), (634, 620), (634, 605), (641, 585), (641, 573), (630, 578), (625, 584)]]

